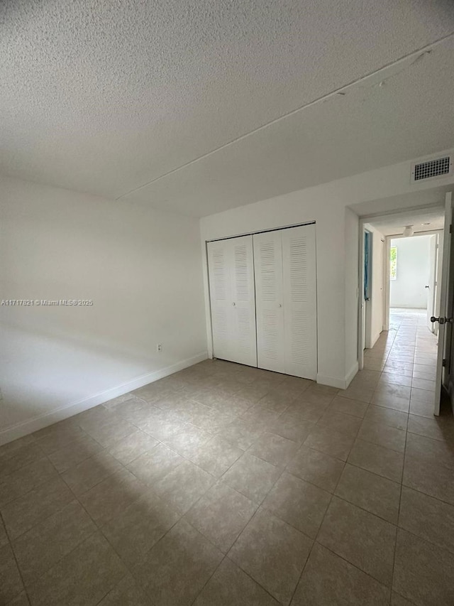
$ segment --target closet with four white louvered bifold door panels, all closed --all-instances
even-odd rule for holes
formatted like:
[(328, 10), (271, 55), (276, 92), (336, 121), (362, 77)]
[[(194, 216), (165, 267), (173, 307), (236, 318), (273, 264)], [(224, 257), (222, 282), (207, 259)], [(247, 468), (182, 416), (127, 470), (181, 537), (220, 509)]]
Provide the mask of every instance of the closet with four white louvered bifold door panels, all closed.
[(214, 356), (316, 379), (315, 224), (207, 243)]

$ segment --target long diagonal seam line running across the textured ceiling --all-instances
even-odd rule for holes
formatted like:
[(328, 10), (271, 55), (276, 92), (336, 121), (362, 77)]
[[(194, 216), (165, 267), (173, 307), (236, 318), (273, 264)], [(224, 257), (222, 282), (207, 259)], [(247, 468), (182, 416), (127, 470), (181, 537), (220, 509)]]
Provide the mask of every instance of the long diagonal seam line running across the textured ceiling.
[[(285, 118), (291, 117), (294, 114), (297, 114), (298, 112), (302, 112), (304, 109), (308, 109), (309, 107), (312, 107), (313, 105), (323, 102), (325, 99), (334, 97), (336, 94), (343, 92), (343, 90), (353, 87), (354, 85), (357, 85), (360, 82), (363, 82), (364, 80), (367, 80), (368, 78), (375, 76), (384, 70), (387, 70), (389, 67), (394, 67), (395, 65), (399, 65), (399, 63), (404, 63), (404, 61), (409, 60), (411, 57), (413, 57), (415, 55), (421, 56), (421, 53), (422, 54), (427, 53), (428, 50), (431, 50), (432, 48), (442, 44), (443, 42), (445, 42), (445, 40), (448, 40), (449, 38), (452, 38), (453, 36), (454, 36), (454, 31), (448, 33), (446, 36), (443, 36), (443, 38), (439, 38), (438, 40), (435, 40), (434, 42), (427, 44), (426, 46), (423, 46), (417, 50), (412, 50), (411, 53), (408, 53), (407, 55), (404, 55), (403, 57), (396, 59), (390, 63), (386, 63), (385, 65), (383, 65), (382, 67), (380, 67), (379, 69), (377, 69), (373, 72), (369, 72), (368, 74), (366, 74), (364, 76), (358, 77), (356, 80), (352, 80), (351, 82), (348, 82), (348, 84), (342, 85), (341, 87), (339, 87), (331, 92), (327, 92), (327, 93), (323, 94), (321, 97), (317, 97), (316, 99), (313, 99), (312, 101), (309, 101), (309, 102), (305, 103), (304, 105), (301, 105), (301, 107), (297, 107), (297, 109), (292, 109), (291, 112), (287, 112), (287, 114), (283, 114), (282, 116), (279, 116), (278, 118), (275, 118), (275, 119), (271, 120), (270, 122), (267, 122), (266, 124), (262, 124), (261, 126), (258, 126), (256, 129), (253, 129), (252, 131), (249, 131), (248, 133), (240, 135), (240, 136), (236, 137), (236, 139), (232, 139), (232, 141), (228, 141), (228, 143), (226, 143), (226, 144), (223, 144), (215, 149), (212, 149), (211, 151), (207, 151), (206, 153), (202, 154), (201, 156), (198, 156), (197, 158), (194, 158), (193, 160), (189, 160), (188, 162), (182, 164), (181, 166), (172, 168), (171, 171), (168, 171), (167, 173), (164, 173), (164, 174), (160, 175), (159, 177), (156, 177), (155, 179), (152, 179), (152, 180), (148, 181), (147, 183), (144, 183), (143, 185), (139, 185), (138, 188), (133, 188), (132, 190), (119, 195), (118, 198), (115, 198), (115, 200), (121, 200), (121, 198), (126, 198), (126, 196), (131, 195), (132, 193), (139, 191), (143, 188), (146, 188), (146, 187), (148, 187), (148, 185), (153, 185), (153, 183), (156, 183), (157, 181), (164, 179), (165, 177), (168, 177), (169, 175), (172, 175), (173, 173), (177, 173), (177, 171), (181, 171), (182, 168), (186, 168), (187, 166), (191, 166), (192, 164), (195, 164), (196, 162), (204, 160), (204, 158), (208, 158), (208, 156), (211, 156), (213, 153), (216, 153), (218, 151), (221, 151), (221, 149), (224, 149), (228, 146), (238, 143), (238, 141), (242, 141), (243, 139), (246, 139), (246, 137), (253, 135), (263, 129), (266, 129), (268, 126), (272, 126), (272, 124), (277, 124), (277, 122), (284, 120)], [(419, 56), (416, 56), (416, 59), (418, 59)], [(411, 65), (413, 65), (413, 64), (411, 64)]]

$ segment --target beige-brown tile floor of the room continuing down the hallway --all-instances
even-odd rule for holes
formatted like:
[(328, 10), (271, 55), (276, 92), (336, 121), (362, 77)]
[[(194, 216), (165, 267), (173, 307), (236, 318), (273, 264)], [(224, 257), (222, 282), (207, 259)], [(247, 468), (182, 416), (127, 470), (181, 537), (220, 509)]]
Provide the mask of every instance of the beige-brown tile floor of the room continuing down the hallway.
[(394, 311), (346, 391), (206, 361), (0, 448), (0, 604), (454, 604), (454, 422)]

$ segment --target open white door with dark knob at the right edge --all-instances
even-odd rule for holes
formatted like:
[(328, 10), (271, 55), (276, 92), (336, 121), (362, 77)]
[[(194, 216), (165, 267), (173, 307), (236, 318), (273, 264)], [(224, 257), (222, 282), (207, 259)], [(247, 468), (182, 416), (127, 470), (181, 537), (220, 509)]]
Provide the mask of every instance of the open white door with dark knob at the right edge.
[[(446, 342), (446, 322), (450, 323), (452, 318), (448, 315), (448, 303), (449, 299), (452, 300), (452, 296), (448, 298), (448, 288), (450, 293), (454, 289), (454, 268), (450, 260), (451, 257), (451, 229), (453, 223), (453, 206), (451, 200), (451, 193), (448, 192), (445, 198), (445, 228), (443, 230), (443, 260), (441, 268), (441, 284), (440, 284), (440, 316), (438, 318), (438, 357), (437, 357), (437, 372), (435, 380), (435, 399), (433, 403), (433, 413), (435, 415), (440, 414), (440, 400), (441, 400), (441, 386), (443, 382), (443, 359), (445, 352), (449, 349), (451, 343)], [(452, 338), (452, 330), (449, 331), (450, 338)]]

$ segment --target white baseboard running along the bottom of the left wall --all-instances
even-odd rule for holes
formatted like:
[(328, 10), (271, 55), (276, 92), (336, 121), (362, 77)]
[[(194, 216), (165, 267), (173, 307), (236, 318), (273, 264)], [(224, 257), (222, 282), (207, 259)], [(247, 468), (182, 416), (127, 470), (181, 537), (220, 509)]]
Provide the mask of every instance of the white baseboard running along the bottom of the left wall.
[(17, 440), (17, 438), (22, 438), (24, 435), (28, 435), (29, 433), (38, 431), (38, 429), (48, 427), (53, 423), (57, 423), (57, 421), (63, 421), (65, 418), (69, 418), (77, 413), (87, 411), (89, 408), (93, 408), (99, 404), (104, 404), (104, 402), (108, 402), (109, 400), (118, 396), (123, 396), (123, 394), (128, 394), (129, 391), (139, 389), (139, 387), (153, 383), (158, 379), (168, 377), (169, 374), (173, 374), (174, 372), (178, 372), (179, 370), (193, 366), (198, 362), (203, 362), (204, 359), (207, 359), (207, 357), (207, 352), (200, 352), (199, 354), (190, 358), (182, 359), (179, 362), (176, 362), (176, 364), (172, 364), (172, 366), (168, 366), (167, 368), (162, 368), (148, 374), (142, 374), (140, 377), (136, 377), (132, 381), (117, 385), (116, 387), (112, 387), (106, 391), (101, 391), (101, 393), (95, 394), (94, 396), (89, 396), (83, 400), (57, 408), (55, 411), (51, 411), (50, 413), (35, 416), (27, 421), (23, 421), (22, 423), (17, 423), (16, 425), (0, 431), (0, 445)]

